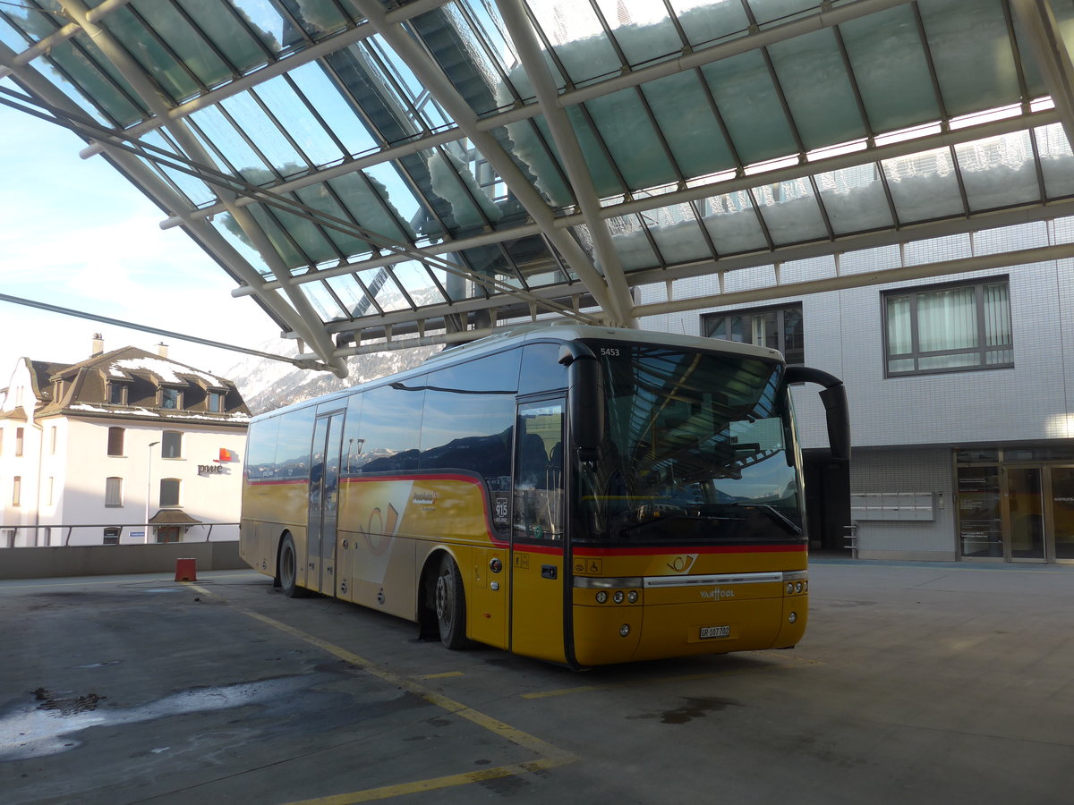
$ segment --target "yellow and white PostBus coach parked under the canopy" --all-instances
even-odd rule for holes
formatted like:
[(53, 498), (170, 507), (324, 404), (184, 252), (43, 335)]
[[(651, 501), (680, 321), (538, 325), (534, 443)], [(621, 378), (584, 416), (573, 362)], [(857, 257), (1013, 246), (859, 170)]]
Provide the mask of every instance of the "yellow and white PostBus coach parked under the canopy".
[(779, 352), (532, 325), (256, 416), (241, 552), (308, 591), (575, 668), (794, 646), (808, 614)]

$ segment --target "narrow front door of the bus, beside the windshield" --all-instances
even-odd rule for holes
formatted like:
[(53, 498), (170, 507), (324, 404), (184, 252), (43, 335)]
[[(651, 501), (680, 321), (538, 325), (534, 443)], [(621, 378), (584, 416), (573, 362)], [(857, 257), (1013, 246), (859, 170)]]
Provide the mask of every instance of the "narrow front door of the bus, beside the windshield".
[(510, 649), (564, 662), (563, 400), (522, 404), (516, 422)]

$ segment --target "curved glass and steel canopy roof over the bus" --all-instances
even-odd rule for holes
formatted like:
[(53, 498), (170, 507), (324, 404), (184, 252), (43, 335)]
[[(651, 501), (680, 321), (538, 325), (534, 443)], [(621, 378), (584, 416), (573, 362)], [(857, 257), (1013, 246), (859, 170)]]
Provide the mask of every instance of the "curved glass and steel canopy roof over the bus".
[(20, 0), (0, 102), (79, 133), (342, 375), (890, 281), (905, 248), (832, 255), (1074, 215), (1071, 28), (1055, 0)]

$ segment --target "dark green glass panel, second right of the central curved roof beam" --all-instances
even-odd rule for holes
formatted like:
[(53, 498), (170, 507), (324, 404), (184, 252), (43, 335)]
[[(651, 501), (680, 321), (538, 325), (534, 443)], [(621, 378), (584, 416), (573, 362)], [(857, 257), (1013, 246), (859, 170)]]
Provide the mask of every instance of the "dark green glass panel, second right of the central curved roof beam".
[[(595, 98), (585, 105), (629, 189), (655, 187), (678, 179), (637, 90), (620, 90)], [(605, 182), (601, 192), (611, 195), (618, 190)]]

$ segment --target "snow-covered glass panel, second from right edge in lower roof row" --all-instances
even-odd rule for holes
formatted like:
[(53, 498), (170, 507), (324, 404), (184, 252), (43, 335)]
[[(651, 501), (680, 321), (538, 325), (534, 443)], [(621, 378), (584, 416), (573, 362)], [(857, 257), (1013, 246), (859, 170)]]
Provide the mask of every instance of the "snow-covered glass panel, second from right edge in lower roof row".
[(956, 145), (970, 209), (1041, 201), (1036, 160), (1028, 131)]

